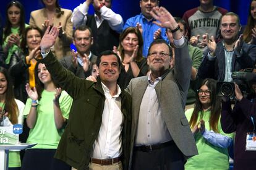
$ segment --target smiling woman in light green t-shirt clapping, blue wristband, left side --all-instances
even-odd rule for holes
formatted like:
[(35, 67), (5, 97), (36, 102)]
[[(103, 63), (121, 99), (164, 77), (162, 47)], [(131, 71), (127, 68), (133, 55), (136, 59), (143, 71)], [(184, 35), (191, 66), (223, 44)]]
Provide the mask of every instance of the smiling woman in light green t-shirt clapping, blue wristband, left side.
[(35, 81), (35, 88), (26, 85), (29, 98), (23, 115), (30, 128), (27, 143), (37, 145), (25, 150), (22, 169), (70, 169), (53, 156), (69, 118), (72, 98), (53, 82), (45, 64), (36, 63)]

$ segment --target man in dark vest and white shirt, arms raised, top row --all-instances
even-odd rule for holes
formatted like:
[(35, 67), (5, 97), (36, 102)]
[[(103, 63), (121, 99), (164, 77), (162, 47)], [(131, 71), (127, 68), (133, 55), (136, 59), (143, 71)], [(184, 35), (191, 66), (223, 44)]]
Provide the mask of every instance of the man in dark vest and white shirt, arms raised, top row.
[[(94, 15), (88, 14), (90, 4), (95, 9)], [(102, 51), (112, 50), (119, 44), (119, 33), (122, 31), (121, 15), (111, 9), (111, 0), (86, 0), (76, 7), (72, 14), (74, 27), (88, 25), (92, 28), (94, 43), (92, 53), (98, 56)]]

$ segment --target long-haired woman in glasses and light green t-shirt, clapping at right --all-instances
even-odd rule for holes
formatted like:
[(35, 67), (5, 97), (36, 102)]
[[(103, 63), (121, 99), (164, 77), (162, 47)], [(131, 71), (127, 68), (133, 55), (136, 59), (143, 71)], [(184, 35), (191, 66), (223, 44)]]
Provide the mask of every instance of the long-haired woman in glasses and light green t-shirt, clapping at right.
[(220, 113), (216, 81), (205, 79), (198, 89), (194, 109), (186, 111), (198, 155), (187, 160), (185, 169), (229, 169), (228, 147), (233, 141), (233, 134), (224, 134)]

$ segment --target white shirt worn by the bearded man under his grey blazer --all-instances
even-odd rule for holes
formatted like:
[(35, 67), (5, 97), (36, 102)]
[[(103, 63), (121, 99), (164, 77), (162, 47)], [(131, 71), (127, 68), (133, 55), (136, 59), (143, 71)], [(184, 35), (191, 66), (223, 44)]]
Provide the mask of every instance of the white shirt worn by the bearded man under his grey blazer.
[(148, 87), (140, 104), (135, 146), (154, 145), (172, 140), (156, 96), (155, 86), (161, 80), (161, 77), (155, 79), (155, 82), (152, 82), (150, 77), (151, 74), (148, 76)]

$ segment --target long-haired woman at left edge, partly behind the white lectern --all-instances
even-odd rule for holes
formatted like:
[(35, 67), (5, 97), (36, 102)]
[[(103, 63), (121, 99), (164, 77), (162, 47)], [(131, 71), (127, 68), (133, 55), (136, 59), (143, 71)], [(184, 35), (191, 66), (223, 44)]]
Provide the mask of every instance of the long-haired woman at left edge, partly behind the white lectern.
[[(14, 98), (14, 91), (12, 90), (12, 80), (9, 74), (7, 73), (7, 70), (3, 67), (0, 67), (0, 87), (1, 126), (23, 124), (22, 113), (24, 109), (24, 103)], [(4, 114), (3, 111), (5, 111)], [(18, 170), (20, 169), (20, 166), (20, 152), (9, 151), (9, 169)]]

